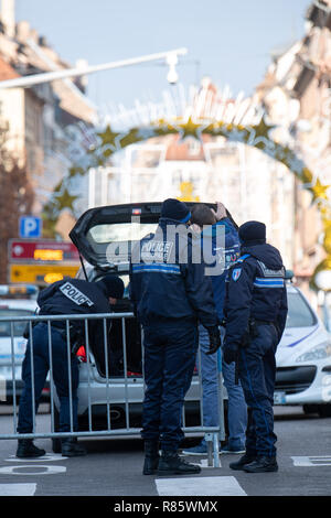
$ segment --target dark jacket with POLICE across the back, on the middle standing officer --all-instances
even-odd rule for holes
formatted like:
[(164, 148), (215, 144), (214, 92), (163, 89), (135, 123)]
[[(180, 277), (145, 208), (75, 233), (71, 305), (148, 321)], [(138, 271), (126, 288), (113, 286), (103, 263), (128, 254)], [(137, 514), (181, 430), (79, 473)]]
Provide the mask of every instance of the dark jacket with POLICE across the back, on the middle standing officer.
[(200, 239), (194, 241), (183, 224), (160, 218), (156, 234), (142, 239), (138, 248), (139, 261), (131, 258), (130, 298), (143, 326), (167, 321), (217, 325), (212, 284), (197, 257)]

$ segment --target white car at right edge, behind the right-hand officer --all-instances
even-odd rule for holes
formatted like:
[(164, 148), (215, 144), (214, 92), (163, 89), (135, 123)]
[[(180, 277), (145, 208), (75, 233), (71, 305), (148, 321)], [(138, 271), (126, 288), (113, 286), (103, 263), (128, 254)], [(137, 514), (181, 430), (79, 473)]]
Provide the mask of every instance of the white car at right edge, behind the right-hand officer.
[(276, 354), (275, 404), (331, 417), (331, 335), (302, 292), (287, 284), (288, 319)]

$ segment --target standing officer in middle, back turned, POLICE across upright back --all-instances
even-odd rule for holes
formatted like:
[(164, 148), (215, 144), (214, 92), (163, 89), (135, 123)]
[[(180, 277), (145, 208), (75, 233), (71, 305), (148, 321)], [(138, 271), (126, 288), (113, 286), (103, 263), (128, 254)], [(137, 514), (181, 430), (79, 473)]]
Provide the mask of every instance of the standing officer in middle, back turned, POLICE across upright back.
[(166, 199), (156, 234), (140, 241), (139, 260), (131, 259), (130, 293), (145, 345), (145, 475), (200, 472), (178, 455), (184, 436), (182, 408), (195, 365), (197, 322), (209, 331), (212, 352), (220, 347), (221, 337), (211, 282), (205, 280), (204, 265), (192, 259), (190, 218), (184, 203)]

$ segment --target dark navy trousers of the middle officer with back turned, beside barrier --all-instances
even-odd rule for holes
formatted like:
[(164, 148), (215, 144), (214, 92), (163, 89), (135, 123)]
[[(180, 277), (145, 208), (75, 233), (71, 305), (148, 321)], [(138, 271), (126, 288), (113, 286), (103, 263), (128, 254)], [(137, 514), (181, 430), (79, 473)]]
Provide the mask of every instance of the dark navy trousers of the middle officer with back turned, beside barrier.
[(195, 366), (195, 322), (167, 321), (143, 327), (145, 400), (141, 436), (177, 451), (184, 439), (182, 409)]

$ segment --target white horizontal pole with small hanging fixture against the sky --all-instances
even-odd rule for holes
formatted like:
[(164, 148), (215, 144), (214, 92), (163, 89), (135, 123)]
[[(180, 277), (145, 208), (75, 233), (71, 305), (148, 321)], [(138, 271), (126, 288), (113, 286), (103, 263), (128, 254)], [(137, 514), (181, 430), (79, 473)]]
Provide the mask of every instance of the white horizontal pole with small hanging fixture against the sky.
[(30, 76), (19, 77), (15, 79), (8, 79), (0, 82), (0, 89), (4, 88), (28, 88), (30, 86), (39, 85), (41, 83), (50, 83), (52, 80), (65, 79), (66, 77), (78, 77), (95, 72), (108, 71), (111, 68), (121, 68), (125, 66), (139, 65), (151, 61), (164, 60), (169, 65), (168, 80), (169, 83), (175, 83), (178, 80), (178, 74), (175, 72), (175, 65), (178, 63), (178, 56), (188, 53), (186, 48), (175, 48), (174, 51), (160, 52), (158, 54), (149, 54), (140, 57), (132, 57), (130, 60), (122, 60), (103, 65), (66, 68), (54, 72), (43, 72), (41, 74), (33, 74)]

